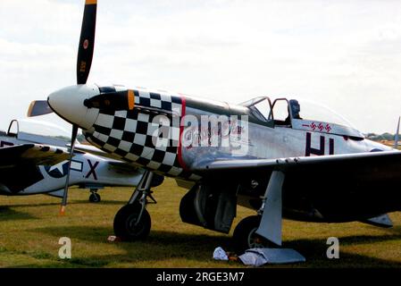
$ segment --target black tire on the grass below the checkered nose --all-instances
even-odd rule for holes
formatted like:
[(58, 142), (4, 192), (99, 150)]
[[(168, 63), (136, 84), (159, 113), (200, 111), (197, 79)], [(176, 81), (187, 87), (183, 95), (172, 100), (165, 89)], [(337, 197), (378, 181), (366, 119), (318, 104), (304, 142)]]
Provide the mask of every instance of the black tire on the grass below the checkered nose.
[(142, 213), (139, 223), (134, 227), (140, 212), (139, 203), (122, 206), (114, 216), (114, 234), (124, 241), (144, 240), (150, 232), (151, 220), (146, 209)]

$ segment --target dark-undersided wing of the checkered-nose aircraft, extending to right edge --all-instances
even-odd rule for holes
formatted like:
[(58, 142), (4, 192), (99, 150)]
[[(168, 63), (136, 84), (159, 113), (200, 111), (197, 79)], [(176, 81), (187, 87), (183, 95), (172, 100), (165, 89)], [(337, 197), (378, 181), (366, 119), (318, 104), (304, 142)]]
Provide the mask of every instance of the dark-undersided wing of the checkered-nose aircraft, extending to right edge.
[(397, 150), (261, 160), (226, 158), (196, 164), (191, 171), (227, 189), (239, 185), (243, 194), (254, 197), (263, 195), (273, 171), (284, 172), (286, 208), (306, 213), (318, 210), (330, 222), (362, 220), (398, 211), (401, 205), (401, 152)]

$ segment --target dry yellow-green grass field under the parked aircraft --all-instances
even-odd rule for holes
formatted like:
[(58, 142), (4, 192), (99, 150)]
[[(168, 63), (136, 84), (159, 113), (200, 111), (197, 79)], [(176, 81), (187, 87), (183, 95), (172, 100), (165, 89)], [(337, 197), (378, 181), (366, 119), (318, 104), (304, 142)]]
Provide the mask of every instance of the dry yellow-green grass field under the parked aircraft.
[[(157, 205), (148, 206), (152, 231), (143, 242), (109, 242), (113, 217), (131, 195), (128, 188), (100, 192), (102, 202), (88, 203), (88, 192), (71, 189), (67, 214), (58, 216), (60, 199), (47, 196), (0, 197), (0, 267), (242, 267), (214, 261), (213, 249), (232, 250), (230, 235), (181, 223), (180, 198), (185, 189), (167, 179), (155, 188)], [(234, 222), (254, 212), (238, 208)], [(284, 246), (295, 248), (306, 263), (280, 267), (399, 267), (401, 215), (391, 214), (392, 229), (363, 223), (285, 221)], [(340, 258), (328, 259), (327, 238), (338, 237)], [(72, 257), (58, 257), (58, 240), (69, 237)], [(266, 267), (278, 267), (268, 265)]]

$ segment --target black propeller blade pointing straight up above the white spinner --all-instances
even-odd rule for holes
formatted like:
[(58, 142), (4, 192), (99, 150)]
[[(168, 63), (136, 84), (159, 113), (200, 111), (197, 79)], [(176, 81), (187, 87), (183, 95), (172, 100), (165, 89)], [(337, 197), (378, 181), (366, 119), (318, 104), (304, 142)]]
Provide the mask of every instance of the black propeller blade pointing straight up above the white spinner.
[(78, 58), (77, 58), (77, 84), (85, 84), (88, 80), (90, 66), (92, 65), (95, 47), (96, 29), (96, 0), (86, 0), (82, 27), (80, 29)]

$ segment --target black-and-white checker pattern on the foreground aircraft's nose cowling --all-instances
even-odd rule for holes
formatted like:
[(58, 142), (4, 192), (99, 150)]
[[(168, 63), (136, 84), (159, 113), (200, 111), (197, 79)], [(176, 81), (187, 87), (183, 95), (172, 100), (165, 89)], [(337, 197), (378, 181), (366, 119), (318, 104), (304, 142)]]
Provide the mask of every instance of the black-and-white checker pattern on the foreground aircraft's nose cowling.
[[(135, 104), (162, 108), (179, 116), (180, 97), (135, 90)], [(174, 124), (170, 117), (169, 126), (155, 124), (155, 112), (138, 111), (100, 111), (94, 124), (95, 131), (88, 140), (106, 152), (114, 153), (129, 162), (135, 162), (149, 169), (178, 176), (183, 169), (178, 161), (180, 124)], [(157, 121), (158, 122), (158, 121)], [(170, 137), (161, 138), (160, 130), (168, 130)], [(155, 144), (156, 143), (156, 144)], [(159, 143), (159, 144), (157, 144)], [(167, 144), (168, 143), (168, 144)]]

